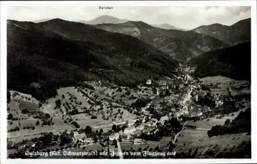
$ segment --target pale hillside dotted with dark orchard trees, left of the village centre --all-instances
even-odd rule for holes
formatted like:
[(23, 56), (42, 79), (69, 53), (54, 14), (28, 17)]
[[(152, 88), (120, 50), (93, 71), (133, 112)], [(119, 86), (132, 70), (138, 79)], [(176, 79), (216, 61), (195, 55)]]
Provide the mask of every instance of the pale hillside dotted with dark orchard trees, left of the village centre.
[[(89, 122), (94, 125), (94, 122), (100, 123), (102, 121), (105, 123), (126, 119), (133, 115), (124, 110), (120, 104), (115, 103), (115, 100), (100, 92), (101, 90), (91, 90), (88, 88), (61, 88), (58, 90), (58, 96), (47, 100), (41, 109), (54, 117), (68, 117), (67, 112), (77, 109), (77, 114), (75, 113), (70, 117), (78, 120), (81, 126), (88, 125)], [(60, 108), (56, 107), (58, 99), (60, 99)]]

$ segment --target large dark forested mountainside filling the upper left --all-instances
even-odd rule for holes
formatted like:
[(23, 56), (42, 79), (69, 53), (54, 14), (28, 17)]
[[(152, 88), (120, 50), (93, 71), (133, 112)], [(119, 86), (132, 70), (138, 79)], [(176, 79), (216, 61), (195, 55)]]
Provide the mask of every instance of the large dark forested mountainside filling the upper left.
[(178, 66), (137, 38), (62, 19), (45, 24), (8, 20), (7, 53), (8, 89), (40, 100), (85, 80), (136, 86), (149, 78), (173, 76)]

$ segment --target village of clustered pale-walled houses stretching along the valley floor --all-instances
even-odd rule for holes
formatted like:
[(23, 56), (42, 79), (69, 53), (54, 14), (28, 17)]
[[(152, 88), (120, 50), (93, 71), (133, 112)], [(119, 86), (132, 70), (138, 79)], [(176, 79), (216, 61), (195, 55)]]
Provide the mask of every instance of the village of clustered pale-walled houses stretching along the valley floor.
[[(141, 90), (145, 90), (145, 88), (151, 90), (154, 96), (143, 107), (122, 104), (122, 107), (125, 107), (124, 109), (131, 110), (136, 114), (133, 117), (122, 118), (107, 124), (98, 124), (92, 128), (90, 126), (80, 128), (76, 121), (72, 121), (71, 125), (75, 125), (76, 128), (44, 132), (40, 139), (35, 137), (13, 144), (10, 138), (9, 149), (16, 149), (18, 152), (24, 150), (44, 152), (71, 149), (79, 151), (87, 150), (91, 146), (97, 146), (97, 150), (107, 155), (106, 158), (123, 158), (122, 153), (115, 154), (112, 152), (124, 152), (123, 145), (130, 145), (131, 147), (133, 145), (143, 146), (152, 141), (158, 142), (163, 138), (169, 138), (170, 144), (166, 148), (168, 150), (172, 145), (176, 145), (177, 136), (185, 127), (194, 127), (187, 125), (188, 121), (192, 122), (214, 115), (228, 114), (229, 112), (224, 113), (224, 110), (221, 109), (224, 103), (226, 103), (226, 106), (234, 104), (235, 99), (233, 96), (238, 88), (234, 87), (234, 90), (227, 89), (223, 95), (214, 94), (212, 91), (219, 89), (218, 84), (206, 84), (204, 83), (205, 81), (193, 78), (189, 72), (181, 68), (177, 72), (178, 76), (173, 79), (163, 78), (158, 81), (148, 79), (145, 84), (138, 86)], [(99, 83), (102, 84), (103, 82), (99, 81)], [(77, 90), (84, 92), (81, 89)], [(13, 97), (18, 95), (16, 92), (12, 94)], [(19, 103), (18, 100), (15, 101)], [(36, 100), (31, 97), (27, 101)], [(56, 101), (56, 103), (58, 102)], [(69, 104), (66, 103), (66, 105)], [(65, 109), (66, 111), (68, 110), (66, 106)], [(102, 110), (104, 111), (104, 108)], [(94, 118), (91, 117), (91, 119)], [(52, 118), (49, 124), (52, 124)], [(45, 137), (49, 138), (49, 136), (52, 139), (44, 139)], [(10, 154), (10, 157), (14, 156), (16, 157), (17, 154)]]

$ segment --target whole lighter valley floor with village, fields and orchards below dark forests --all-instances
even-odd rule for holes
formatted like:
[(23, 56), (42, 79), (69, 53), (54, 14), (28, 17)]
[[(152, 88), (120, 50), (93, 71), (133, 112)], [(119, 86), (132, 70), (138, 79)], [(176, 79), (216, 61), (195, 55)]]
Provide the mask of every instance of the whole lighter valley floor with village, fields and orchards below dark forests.
[[(172, 79), (152, 81), (153, 84), (151, 85), (141, 84), (137, 88), (119, 87), (109, 83), (108, 81), (85, 81), (85, 83), (90, 87), (60, 88), (57, 96), (50, 98), (43, 103), (36, 101), (29, 94), (10, 91), (11, 97), (9, 108), (11, 109), (14, 106), (16, 108), (9, 111), (9, 113), (12, 114), (12, 119), (14, 119), (8, 120), (8, 140), (13, 144), (18, 144), (22, 141), (26, 142), (27, 139), (33, 139), (34, 137), (43, 137), (48, 133), (52, 133), (53, 136), (59, 136), (65, 133), (69, 134), (74, 131), (80, 135), (83, 133), (84, 129), (90, 127), (92, 131), (96, 131), (98, 133), (99, 131), (102, 131), (101, 135), (94, 134), (97, 136), (97, 141), (92, 142), (94, 137), (89, 137), (93, 134), (90, 134), (89, 136), (85, 135), (85, 137), (81, 138), (79, 142), (77, 141), (75, 147), (67, 145), (68, 147), (66, 149), (74, 148), (74, 150), (78, 149), (79, 151), (80, 149), (82, 150), (83, 147), (87, 148), (97, 143), (103, 143), (104, 138), (108, 135), (110, 141), (113, 141), (113, 139), (119, 140), (121, 150), (126, 148), (122, 152), (126, 152), (130, 149), (155, 150), (157, 147), (162, 151), (166, 151), (167, 148), (165, 145), (171, 145), (171, 141), (176, 145), (174, 150), (177, 153), (187, 152), (189, 147), (192, 146), (198, 150), (198, 147), (204, 147), (202, 144), (203, 142), (212, 145), (211, 140), (213, 139), (208, 137), (207, 131), (211, 130), (214, 125), (224, 125), (227, 119), (235, 119), (241, 111), (245, 111), (246, 108), (250, 107), (250, 101), (248, 99), (242, 101), (244, 108), (241, 109), (241, 106), (238, 106), (236, 107), (238, 109), (235, 109), (235, 112), (228, 111), (228, 113), (224, 115), (223, 112), (219, 113), (217, 110), (218, 108), (216, 108), (217, 111), (215, 114), (213, 116), (209, 116), (212, 113), (212, 110), (215, 111), (215, 107), (212, 107), (212, 109), (210, 109), (211, 111), (208, 112), (205, 111), (205, 106), (201, 109), (200, 113), (194, 109), (200, 107), (197, 105), (197, 101), (192, 100), (195, 98), (194, 94), (203, 94), (201, 89), (197, 91), (197, 87), (199, 85), (201, 87), (210, 87), (210, 84), (220, 87), (219, 83), (221, 83), (222, 87), (224, 86), (224, 83), (227, 83), (228, 85), (224, 87), (228, 87), (230, 90), (226, 90), (227, 93), (221, 90), (219, 95), (228, 96), (229, 91), (232, 91), (236, 86), (241, 86), (240, 83), (247, 83), (247, 81), (236, 81), (222, 76), (193, 79), (186, 72), (181, 71), (180, 73), (182, 73), (180, 74), (180, 77), (183, 78), (178, 79), (181, 79), (183, 84), (189, 84), (188, 86), (181, 86), (181, 83), (179, 83), (178, 80), (174, 81)], [(167, 90), (167, 88), (169, 89)], [(160, 91), (157, 91), (159, 89)], [(167, 93), (162, 93), (162, 89), (164, 89), (164, 91), (166, 90), (166, 92), (169, 91), (168, 95), (166, 95)], [(180, 94), (181, 97), (176, 97), (178, 92), (176, 89), (179, 89), (179, 92), (183, 93)], [(241, 91), (234, 92), (237, 94), (242, 93)], [(213, 92), (212, 88), (211, 93), (213, 96), (216, 95), (216, 92)], [(181, 99), (180, 101), (177, 101), (178, 104), (175, 103), (176, 99)], [(142, 101), (141, 103), (144, 105), (140, 107), (135, 105), (138, 100), (148, 101), (149, 103), (143, 103)], [(26, 104), (26, 102), (34, 104), (34, 108), (31, 108), (33, 106), (30, 106), (28, 109), (21, 108), (24, 106), (23, 104)], [(166, 103), (163, 104), (163, 102)], [(239, 105), (241, 105), (241, 103)], [(179, 107), (175, 108), (172, 106)], [(20, 110), (22, 113), (24, 113), (24, 110), (28, 110), (26, 118), (16, 112)], [(74, 113), (71, 114), (72, 112)], [(46, 120), (43, 117), (33, 118), (34, 113), (40, 113), (43, 117), (49, 115), (48, 117), (50, 118), (48, 118), (48, 120), (50, 121), (50, 124), (48, 123), (48, 125), (44, 125), (44, 121)], [(131, 121), (132, 123), (130, 123)], [(162, 129), (164, 127), (168, 128), (169, 121), (178, 121), (178, 129), (176, 130), (176, 128), (173, 127), (175, 129), (172, 128), (173, 132), (169, 134), (171, 135), (170, 137), (166, 136), (166, 134), (164, 134), (163, 137), (160, 137), (163, 135), (163, 132), (161, 132)], [(39, 124), (37, 122), (39, 122)], [(77, 123), (72, 124), (72, 122)], [(139, 124), (135, 124), (135, 122), (138, 122)], [(175, 124), (175, 122), (173, 124)], [(163, 125), (165, 126), (163, 127)], [(181, 127), (179, 125), (181, 125)], [(122, 132), (120, 132), (120, 130), (117, 130), (117, 132), (119, 131), (117, 133), (119, 135), (117, 135), (118, 137), (115, 137), (115, 131), (118, 127), (123, 128), (123, 131), (121, 130)], [(139, 127), (144, 128), (141, 129)], [(19, 130), (17, 130), (17, 128), (19, 128)], [(132, 130), (132, 128), (135, 130)], [(128, 133), (126, 131), (128, 131)], [(145, 138), (143, 134), (150, 135), (154, 140), (157, 138), (160, 138), (160, 140), (157, 139), (156, 141), (151, 141), (152, 139)], [(237, 136), (236, 134), (233, 135)], [(240, 136), (241, 135), (244, 136), (245, 134), (240, 134)], [(120, 138), (121, 136), (122, 138)], [(142, 140), (146, 139), (146, 141), (140, 141), (141, 144), (135, 145), (135, 140), (133, 138), (137, 139), (141, 137), (143, 137)], [(243, 138), (243, 140), (245, 139)], [(216, 142), (214, 143), (216, 144)], [(162, 144), (162, 146), (160, 144)], [(240, 143), (238, 142), (238, 144)], [(105, 148), (104, 145), (100, 145), (103, 149)], [(77, 148), (78, 146), (79, 148)], [(216, 147), (219, 150), (225, 148), (224, 144)], [(52, 148), (56, 149), (58, 147), (53, 146)], [(52, 148), (49, 147), (48, 149)], [(61, 147), (59, 147), (59, 149), (60, 148)], [(226, 149), (230, 148), (226, 147)], [(198, 150), (201, 152), (200, 154), (204, 154), (206, 151), (200, 150)], [(216, 152), (216, 154), (218, 153), (219, 152)], [(127, 157), (128, 156), (122, 156), (122, 158)]]

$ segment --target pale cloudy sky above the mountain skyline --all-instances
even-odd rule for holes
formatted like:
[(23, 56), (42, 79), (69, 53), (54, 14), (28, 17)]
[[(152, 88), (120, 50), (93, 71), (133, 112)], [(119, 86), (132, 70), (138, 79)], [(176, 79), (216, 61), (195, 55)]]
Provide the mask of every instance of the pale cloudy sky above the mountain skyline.
[(239, 20), (251, 17), (250, 7), (240, 6), (113, 6), (112, 10), (99, 10), (94, 7), (9, 7), (7, 18), (20, 21), (33, 21), (46, 18), (61, 18), (71, 21), (88, 21), (101, 15), (119, 19), (142, 21), (148, 24), (170, 24), (193, 29), (202, 25), (219, 23), (232, 25)]

